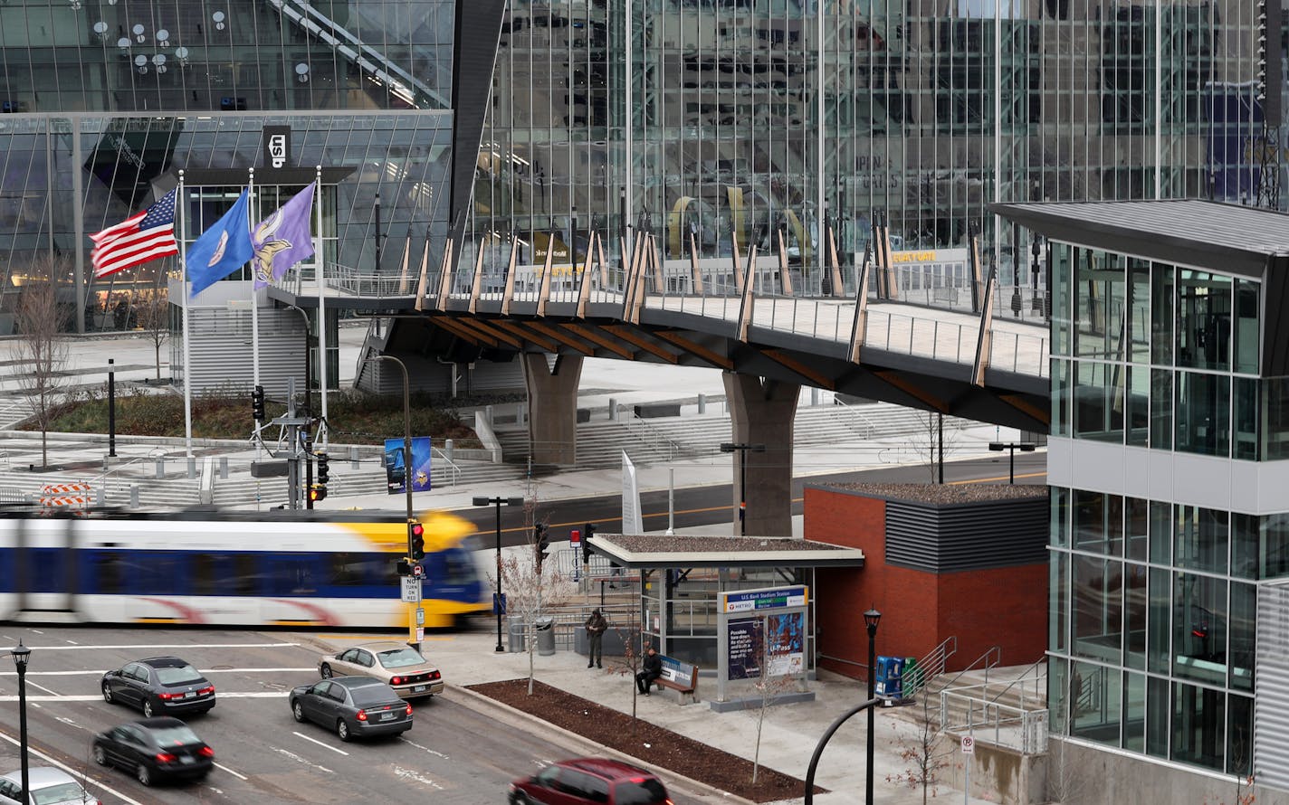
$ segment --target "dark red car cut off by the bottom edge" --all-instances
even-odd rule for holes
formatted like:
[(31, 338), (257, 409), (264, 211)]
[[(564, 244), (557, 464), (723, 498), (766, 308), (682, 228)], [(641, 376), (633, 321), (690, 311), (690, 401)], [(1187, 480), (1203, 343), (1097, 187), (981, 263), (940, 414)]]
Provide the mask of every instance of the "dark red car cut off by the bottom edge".
[(510, 783), (510, 805), (672, 805), (644, 769), (603, 757), (561, 760)]

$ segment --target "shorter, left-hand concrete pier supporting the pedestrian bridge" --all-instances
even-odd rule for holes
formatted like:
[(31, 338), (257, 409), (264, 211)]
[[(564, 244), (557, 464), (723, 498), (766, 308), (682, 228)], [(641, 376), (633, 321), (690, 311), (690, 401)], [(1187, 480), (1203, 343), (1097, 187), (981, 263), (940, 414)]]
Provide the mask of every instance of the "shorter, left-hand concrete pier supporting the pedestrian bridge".
[(577, 457), (577, 381), (581, 355), (523, 353), (528, 388), (528, 456), (534, 464), (575, 464)]

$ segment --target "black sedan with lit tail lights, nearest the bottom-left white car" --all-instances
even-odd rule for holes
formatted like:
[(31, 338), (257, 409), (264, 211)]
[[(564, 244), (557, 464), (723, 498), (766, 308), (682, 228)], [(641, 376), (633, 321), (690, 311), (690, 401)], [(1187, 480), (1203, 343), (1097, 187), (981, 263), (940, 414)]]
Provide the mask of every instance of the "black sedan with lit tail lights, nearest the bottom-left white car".
[(179, 719), (161, 716), (113, 726), (94, 735), (94, 762), (133, 772), (151, 786), (161, 779), (201, 779), (215, 751)]

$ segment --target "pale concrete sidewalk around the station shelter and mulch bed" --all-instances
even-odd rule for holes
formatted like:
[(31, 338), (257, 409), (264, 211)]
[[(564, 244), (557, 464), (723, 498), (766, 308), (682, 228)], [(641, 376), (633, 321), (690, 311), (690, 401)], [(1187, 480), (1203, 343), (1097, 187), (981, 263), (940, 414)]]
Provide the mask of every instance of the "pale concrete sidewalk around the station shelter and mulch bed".
[[(324, 636), (315, 635), (312, 643), (326, 647), (349, 644), (353, 635)], [(438, 665), (447, 680), (445, 696), (476, 710), (483, 710), (503, 719), (516, 729), (549, 735), (552, 729), (544, 723), (536, 723), (526, 714), (504, 705), (486, 699), (465, 690), (465, 685), (507, 679), (527, 679), (528, 654), (496, 653), (494, 632), (467, 632), (458, 635), (428, 635), (423, 644), (425, 656)], [(597, 705), (612, 707), (621, 712), (632, 710), (632, 675), (619, 657), (605, 657), (605, 670), (586, 667), (585, 657), (575, 652), (558, 650), (543, 657), (534, 653), (535, 679), (548, 685), (561, 688)], [(771, 707), (761, 735), (761, 762), (806, 779), (811, 755), (819, 739), (831, 723), (847, 710), (865, 699), (864, 684), (853, 680), (839, 681), (840, 677), (828, 675), (828, 680), (809, 683), (815, 693), (813, 702), (780, 705)], [(704, 690), (705, 689), (705, 690)], [(704, 677), (699, 684), (700, 698), (715, 696), (715, 681)], [(705, 694), (705, 696), (704, 696)], [(697, 705), (679, 705), (672, 692), (660, 692), (651, 697), (635, 699), (637, 715), (652, 724), (672, 732), (684, 734), (708, 746), (732, 755), (753, 759), (757, 741), (757, 710), (718, 714), (709, 708), (706, 701)], [(867, 720), (858, 714), (842, 725), (829, 741), (815, 775), (817, 786), (829, 793), (816, 795), (819, 805), (853, 805), (864, 800), (865, 755), (867, 741)], [(901, 760), (901, 739), (907, 744), (916, 739), (916, 728), (900, 719), (892, 710), (877, 711), (877, 741), (874, 753), (874, 801), (882, 805), (920, 805), (922, 788), (892, 782), (891, 778), (909, 768)], [(580, 738), (577, 741), (581, 741)], [(568, 756), (575, 753), (603, 753), (602, 748), (581, 744), (577, 741), (565, 741), (562, 750)], [(955, 762), (958, 759), (949, 759)], [(635, 761), (638, 762), (638, 761)], [(946, 769), (949, 772), (949, 769)], [(741, 802), (723, 792), (714, 792), (703, 786), (695, 786), (683, 778), (660, 770), (660, 777), (672, 783), (677, 791), (695, 796), (704, 802)], [(944, 774), (942, 774), (944, 777)], [(945, 784), (933, 786), (938, 792), (937, 801), (956, 802), (962, 792), (954, 792)], [(800, 802), (802, 799), (789, 800)], [(971, 804), (984, 804), (991, 800), (971, 799)], [(996, 800), (993, 800), (996, 801)]]

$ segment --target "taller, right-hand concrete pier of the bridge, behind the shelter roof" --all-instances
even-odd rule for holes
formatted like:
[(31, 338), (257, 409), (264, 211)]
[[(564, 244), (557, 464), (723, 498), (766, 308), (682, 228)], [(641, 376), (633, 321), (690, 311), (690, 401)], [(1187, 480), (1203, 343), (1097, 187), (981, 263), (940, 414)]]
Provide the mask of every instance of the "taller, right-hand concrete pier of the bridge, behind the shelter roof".
[[(733, 532), (737, 536), (793, 536), (793, 420), (800, 384), (724, 372), (731, 442), (764, 444), (764, 452), (733, 452)], [(744, 469), (746, 468), (746, 471)], [(740, 484), (748, 482), (748, 495)], [(739, 526), (739, 502), (748, 510)]]

